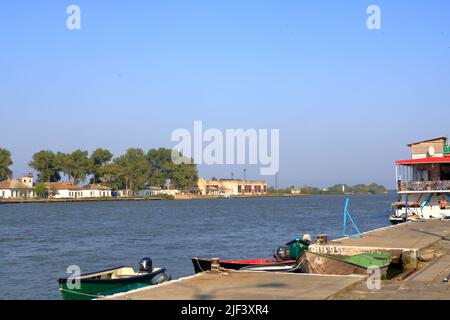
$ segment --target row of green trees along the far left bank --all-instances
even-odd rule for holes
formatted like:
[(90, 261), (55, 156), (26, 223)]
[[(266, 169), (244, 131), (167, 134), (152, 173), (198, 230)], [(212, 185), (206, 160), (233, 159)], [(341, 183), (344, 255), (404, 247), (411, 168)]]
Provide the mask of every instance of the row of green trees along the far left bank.
[[(75, 150), (70, 153), (42, 150), (33, 155), (29, 166), (37, 171), (38, 182), (59, 182), (66, 177), (73, 184), (101, 183), (115, 190), (135, 192), (146, 186), (166, 186), (184, 191), (196, 188), (198, 171), (191, 159), (183, 157), (182, 164), (174, 164), (172, 150), (151, 149), (147, 153), (139, 148), (130, 148), (118, 157), (107, 149), (88, 151)], [(11, 176), (11, 153), (0, 148), (0, 180)], [(89, 181), (88, 181), (89, 179)]]

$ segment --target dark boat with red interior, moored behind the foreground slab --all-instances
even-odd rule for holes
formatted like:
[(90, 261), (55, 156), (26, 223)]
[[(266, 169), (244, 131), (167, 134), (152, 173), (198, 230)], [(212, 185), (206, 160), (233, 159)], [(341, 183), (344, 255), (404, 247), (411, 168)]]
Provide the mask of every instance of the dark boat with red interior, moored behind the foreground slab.
[[(211, 259), (193, 258), (195, 273), (211, 270)], [(277, 266), (277, 265), (294, 265), (295, 260), (275, 260), (275, 259), (255, 259), (255, 260), (220, 260), (220, 267), (231, 270), (239, 270), (252, 266)]]

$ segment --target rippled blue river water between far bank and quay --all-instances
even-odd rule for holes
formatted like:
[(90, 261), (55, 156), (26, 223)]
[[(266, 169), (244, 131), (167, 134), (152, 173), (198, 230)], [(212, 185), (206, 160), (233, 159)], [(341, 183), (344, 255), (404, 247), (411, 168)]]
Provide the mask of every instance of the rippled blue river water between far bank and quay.
[[(361, 232), (389, 224), (395, 195), (351, 196)], [(270, 257), (297, 235), (342, 232), (343, 196), (0, 205), (0, 299), (61, 299), (69, 265), (137, 268), (144, 256), (174, 278), (194, 256)]]

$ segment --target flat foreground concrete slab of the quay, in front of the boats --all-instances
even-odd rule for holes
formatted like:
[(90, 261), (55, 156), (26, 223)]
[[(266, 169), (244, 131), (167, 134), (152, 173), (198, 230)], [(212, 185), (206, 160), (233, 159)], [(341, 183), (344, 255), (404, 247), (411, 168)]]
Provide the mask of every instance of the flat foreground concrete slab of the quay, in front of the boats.
[(365, 276), (251, 271), (204, 272), (108, 300), (323, 300)]

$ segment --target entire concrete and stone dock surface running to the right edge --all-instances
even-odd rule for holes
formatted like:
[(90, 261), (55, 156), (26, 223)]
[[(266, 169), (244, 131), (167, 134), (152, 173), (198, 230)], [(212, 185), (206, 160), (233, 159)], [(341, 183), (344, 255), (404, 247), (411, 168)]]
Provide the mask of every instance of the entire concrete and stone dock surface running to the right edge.
[(386, 252), (403, 270), (381, 289), (370, 290), (367, 276), (312, 275), (251, 271), (206, 272), (104, 299), (113, 300), (324, 300), (447, 299), (450, 285), (450, 221), (410, 222), (343, 238), (312, 251), (352, 255)]

